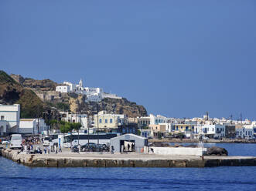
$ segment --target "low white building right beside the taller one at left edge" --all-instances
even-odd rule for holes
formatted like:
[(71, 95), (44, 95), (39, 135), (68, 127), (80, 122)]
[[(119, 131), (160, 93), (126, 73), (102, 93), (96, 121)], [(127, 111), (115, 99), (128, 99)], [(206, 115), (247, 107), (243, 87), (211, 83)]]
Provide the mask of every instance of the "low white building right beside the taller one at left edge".
[(20, 119), (19, 133), (36, 135), (47, 130), (48, 126), (44, 119)]

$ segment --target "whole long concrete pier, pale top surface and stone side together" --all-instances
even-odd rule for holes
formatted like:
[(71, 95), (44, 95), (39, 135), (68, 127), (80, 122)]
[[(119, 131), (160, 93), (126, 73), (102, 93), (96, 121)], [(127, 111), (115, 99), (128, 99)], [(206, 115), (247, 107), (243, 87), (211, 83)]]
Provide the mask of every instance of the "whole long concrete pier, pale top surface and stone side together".
[(30, 167), (213, 167), (256, 166), (256, 156), (160, 156), (148, 153), (22, 154), (3, 149), (2, 156)]

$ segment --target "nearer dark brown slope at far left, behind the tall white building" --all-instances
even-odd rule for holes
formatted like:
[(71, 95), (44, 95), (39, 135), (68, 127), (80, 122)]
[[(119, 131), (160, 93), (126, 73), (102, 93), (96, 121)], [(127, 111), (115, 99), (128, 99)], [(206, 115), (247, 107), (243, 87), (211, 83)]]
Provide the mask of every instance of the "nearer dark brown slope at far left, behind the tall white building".
[(19, 82), (4, 71), (0, 71), (0, 104), (21, 105), (22, 118), (36, 118), (42, 116), (43, 102), (30, 89), (24, 88)]

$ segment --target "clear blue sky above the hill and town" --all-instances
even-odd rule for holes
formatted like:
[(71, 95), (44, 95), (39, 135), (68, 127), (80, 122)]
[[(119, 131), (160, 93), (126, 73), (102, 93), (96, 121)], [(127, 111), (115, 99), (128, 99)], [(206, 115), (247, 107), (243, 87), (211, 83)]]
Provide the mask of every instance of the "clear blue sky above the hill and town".
[(168, 117), (256, 119), (256, 1), (0, 1), (0, 69)]

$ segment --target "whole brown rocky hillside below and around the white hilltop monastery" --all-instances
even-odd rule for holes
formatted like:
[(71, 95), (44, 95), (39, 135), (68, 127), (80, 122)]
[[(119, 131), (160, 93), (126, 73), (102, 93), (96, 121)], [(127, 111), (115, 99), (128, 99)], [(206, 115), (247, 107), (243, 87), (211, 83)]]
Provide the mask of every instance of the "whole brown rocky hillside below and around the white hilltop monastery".
[[(12, 76), (12, 77), (11, 77)], [(96, 113), (106, 110), (109, 113), (125, 114), (128, 117), (147, 116), (143, 106), (127, 99), (102, 99), (101, 102), (84, 102), (86, 95), (55, 92), (56, 82), (49, 79), (36, 80), (22, 75), (0, 75), (0, 103), (20, 103), (22, 117), (35, 117), (40, 112), (49, 113), (48, 119), (59, 116), (59, 111)], [(55, 109), (55, 110), (54, 110)]]

